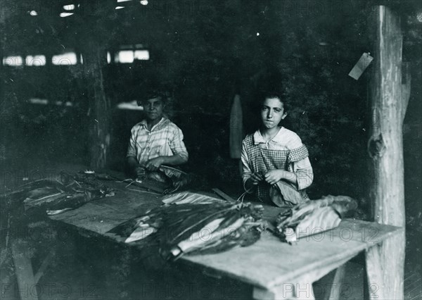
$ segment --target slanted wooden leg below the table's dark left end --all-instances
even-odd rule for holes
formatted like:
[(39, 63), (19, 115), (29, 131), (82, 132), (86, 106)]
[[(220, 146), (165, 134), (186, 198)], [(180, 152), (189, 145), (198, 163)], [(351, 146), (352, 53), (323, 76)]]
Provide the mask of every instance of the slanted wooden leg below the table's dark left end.
[(37, 285), (32, 272), (32, 263), (27, 256), (27, 242), (15, 239), (11, 245), (16, 280), (18, 281), (20, 299), (37, 300)]

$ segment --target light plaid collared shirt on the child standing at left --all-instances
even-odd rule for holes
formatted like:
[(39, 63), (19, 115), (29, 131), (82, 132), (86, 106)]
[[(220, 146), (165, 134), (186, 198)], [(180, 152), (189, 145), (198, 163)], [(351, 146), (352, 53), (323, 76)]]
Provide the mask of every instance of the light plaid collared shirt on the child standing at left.
[(131, 130), (126, 157), (135, 157), (140, 165), (158, 156), (178, 154), (188, 159), (188, 151), (183, 142), (180, 128), (163, 117), (160, 122), (148, 130), (146, 120), (134, 125)]

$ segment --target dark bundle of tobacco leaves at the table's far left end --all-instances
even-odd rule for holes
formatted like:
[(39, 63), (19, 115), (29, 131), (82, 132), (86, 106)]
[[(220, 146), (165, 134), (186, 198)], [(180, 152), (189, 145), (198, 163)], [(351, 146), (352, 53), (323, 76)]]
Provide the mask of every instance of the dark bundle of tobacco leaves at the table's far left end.
[(113, 191), (95, 177), (60, 173), (58, 180), (37, 180), (12, 192), (13, 201), (24, 204), (25, 211), (37, 209), (55, 215), (77, 208), (104, 196), (113, 196)]

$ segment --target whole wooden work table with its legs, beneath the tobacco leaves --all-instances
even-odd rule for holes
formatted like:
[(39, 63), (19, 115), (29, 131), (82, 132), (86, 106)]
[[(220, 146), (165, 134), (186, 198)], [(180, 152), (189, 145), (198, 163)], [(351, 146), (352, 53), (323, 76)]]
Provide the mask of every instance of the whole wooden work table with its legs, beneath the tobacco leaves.
[[(107, 182), (107, 185), (116, 190), (115, 196), (91, 201), (50, 218), (70, 225), (84, 235), (123, 242), (121, 237), (106, 232), (124, 220), (159, 206), (161, 195), (141, 192), (142, 189), (133, 186), (128, 189), (127, 184), (119, 182)], [(274, 220), (277, 213), (279, 208), (268, 206), (264, 216)], [(314, 299), (313, 282), (366, 251), (369, 296), (383, 299), (379, 297), (383, 294), (383, 274), (372, 253), (378, 251), (385, 239), (401, 230), (346, 219), (334, 230), (302, 238), (297, 244), (280, 242), (270, 232), (263, 232), (261, 239), (251, 246), (236, 247), (220, 254), (184, 256), (181, 262), (248, 283), (253, 287), (255, 299), (290, 299), (295, 293), (301, 299)]]

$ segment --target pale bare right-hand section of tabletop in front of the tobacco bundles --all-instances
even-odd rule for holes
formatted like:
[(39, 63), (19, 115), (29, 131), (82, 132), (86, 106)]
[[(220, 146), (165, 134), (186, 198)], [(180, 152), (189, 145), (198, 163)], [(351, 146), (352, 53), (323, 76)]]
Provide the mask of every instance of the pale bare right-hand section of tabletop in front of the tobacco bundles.
[[(362, 236), (362, 230), (355, 231), (368, 226), (378, 228), (374, 241), (371, 240), (372, 236)], [(359, 220), (344, 220), (335, 230), (305, 237), (291, 246), (281, 243), (268, 232), (263, 232), (261, 239), (247, 248), (236, 248), (221, 254), (186, 256), (184, 259), (220, 270), (257, 287), (271, 289), (283, 285), (283, 282), (296, 280), (305, 273), (313, 272), (317, 280), (360, 251), (382, 242), (400, 230), (394, 226), (384, 227)], [(250, 260), (251, 256), (253, 260)]]

